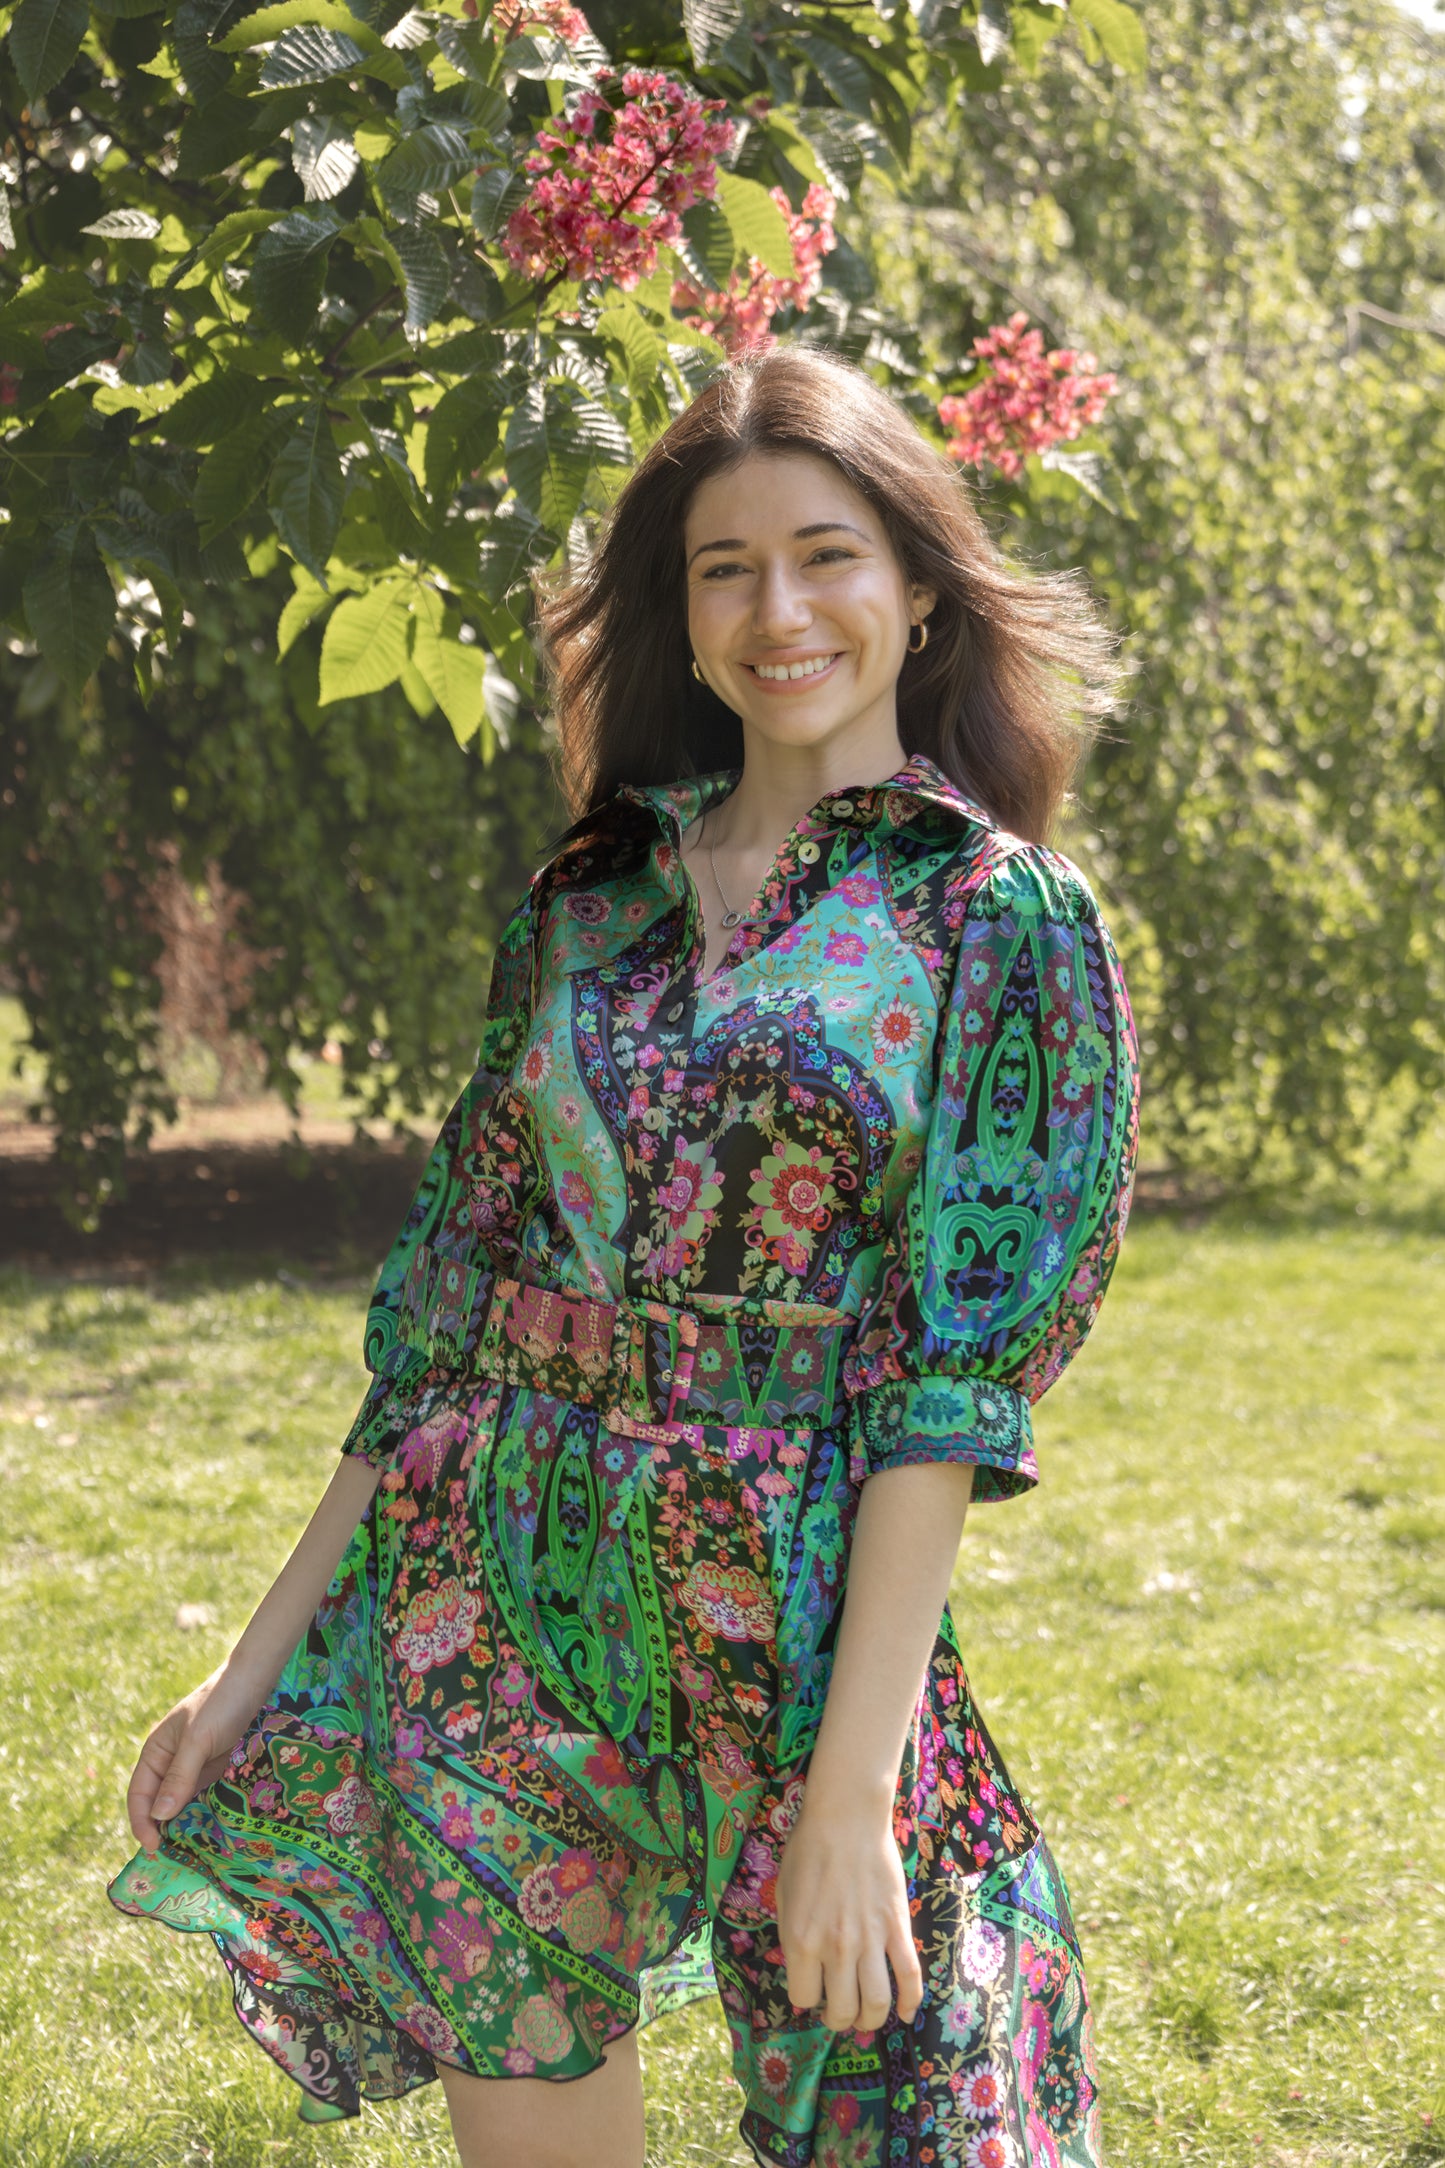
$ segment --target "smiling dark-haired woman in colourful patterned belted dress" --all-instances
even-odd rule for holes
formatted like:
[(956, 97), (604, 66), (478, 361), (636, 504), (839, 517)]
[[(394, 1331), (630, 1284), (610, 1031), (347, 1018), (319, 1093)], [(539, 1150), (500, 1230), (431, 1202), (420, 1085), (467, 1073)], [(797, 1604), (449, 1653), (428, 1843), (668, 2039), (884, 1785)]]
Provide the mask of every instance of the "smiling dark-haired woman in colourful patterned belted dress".
[(581, 820), (110, 1895), (212, 1934), (303, 2118), (440, 2077), (466, 2168), (639, 2168), (637, 2025), (711, 1988), (758, 2161), (1092, 2168), (1064, 1884), (947, 1589), (1127, 1218), (1129, 1004), (1042, 843), (1107, 637), (799, 349), (542, 618)]

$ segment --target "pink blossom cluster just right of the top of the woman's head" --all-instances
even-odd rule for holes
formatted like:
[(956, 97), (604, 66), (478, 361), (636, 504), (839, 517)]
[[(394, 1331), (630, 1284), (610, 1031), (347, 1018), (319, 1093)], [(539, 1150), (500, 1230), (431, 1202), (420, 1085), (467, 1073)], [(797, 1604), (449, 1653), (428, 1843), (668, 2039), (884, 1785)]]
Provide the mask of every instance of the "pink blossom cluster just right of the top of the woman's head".
[(1031, 451), (1066, 442), (1098, 421), (1118, 377), (1092, 375), (1098, 362), (1075, 347), (1044, 353), (1042, 332), (1029, 332), (1023, 310), (973, 340), (990, 373), (968, 392), (938, 401), (951, 460), (979, 460), (1016, 475)]

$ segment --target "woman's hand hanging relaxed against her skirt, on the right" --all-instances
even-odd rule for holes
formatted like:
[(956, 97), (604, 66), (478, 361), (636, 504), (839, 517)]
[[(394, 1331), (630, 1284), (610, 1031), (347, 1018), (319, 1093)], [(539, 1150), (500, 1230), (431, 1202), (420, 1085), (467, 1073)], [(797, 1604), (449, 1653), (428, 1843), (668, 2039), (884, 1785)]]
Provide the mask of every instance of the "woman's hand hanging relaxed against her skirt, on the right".
[(908, 1912), (908, 1880), (888, 1812), (862, 1799), (804, 1799), (778, 1867), (778, 1940), (795, 2010), (823, 2005), (832, 2031), (875, 2031), (890, 1982), (910, 2025), (923, 1971)]

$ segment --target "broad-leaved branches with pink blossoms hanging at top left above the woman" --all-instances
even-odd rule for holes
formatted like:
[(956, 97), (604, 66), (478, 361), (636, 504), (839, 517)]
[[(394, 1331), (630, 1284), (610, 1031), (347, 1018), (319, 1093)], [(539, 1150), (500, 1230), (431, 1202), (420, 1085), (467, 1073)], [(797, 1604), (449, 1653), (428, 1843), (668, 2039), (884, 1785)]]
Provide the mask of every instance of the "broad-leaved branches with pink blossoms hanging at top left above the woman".
[[(323, 700), (401, 683), (485, 733), (535, 683), (520, 575), (717, 364), (737, 284), (795, 282), (925, 89), (1057, 15), (600, 7), (609, 56), (561, 0), (19, 0), (0, 614), (71, 689), (128, 616), (147, 692), (279, 549)], [(815, 334), (886, 364), (867, 264), (832, 271)]]

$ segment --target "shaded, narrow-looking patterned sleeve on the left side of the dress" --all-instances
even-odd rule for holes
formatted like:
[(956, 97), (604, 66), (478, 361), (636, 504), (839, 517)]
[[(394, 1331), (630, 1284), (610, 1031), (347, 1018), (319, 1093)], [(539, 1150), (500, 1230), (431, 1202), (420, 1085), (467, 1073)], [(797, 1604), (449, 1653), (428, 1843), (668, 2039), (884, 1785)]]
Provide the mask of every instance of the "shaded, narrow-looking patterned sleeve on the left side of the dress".
[(366, 1312), (364, 1359), (370, 1388), (340, 1450), (377, 1468), (390, 1463), (412, 1427), (407, 1420), (412, 1401), (433, 1366), (433, 1359), (407, 1344), (399, 1331), (401, 1299), (416, 1251), (427, 1244), (461, 1268), (487, 1262), (468, 1210), (470, 1151), (487, 1106), (507, 1084), (526, 1036), (533, 1004), (533, 893), (535, 889), (526, 891), (496, 945), (477, 1069), (442, 1123)]

